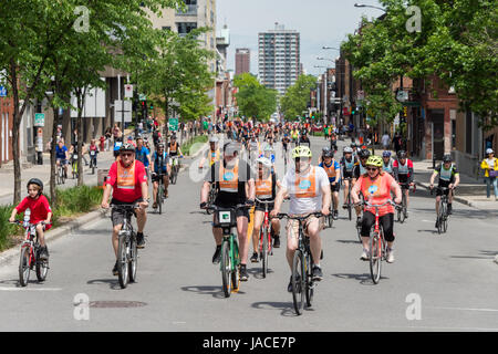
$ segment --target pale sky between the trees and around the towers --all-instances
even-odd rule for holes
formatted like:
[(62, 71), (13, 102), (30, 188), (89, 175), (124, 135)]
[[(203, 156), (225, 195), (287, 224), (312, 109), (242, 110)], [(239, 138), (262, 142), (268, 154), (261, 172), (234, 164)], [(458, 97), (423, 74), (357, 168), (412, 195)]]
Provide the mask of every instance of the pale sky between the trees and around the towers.
[(297, 30), (301, 38), (301, 62), (308, 74), (318, 75), (333, 67), (331, 61), (320, 61), (317, 56), (334, 60), (336, 50), (349, 33), (357, 29), (362, 15), (369, 19), (383, 12), (371, 8), (355, 8), (354, 3), (381, 7), (376, 0), (217, 0), (217, 30), (225, 24), (230, 29), (228, 69), (235, 71), (237, 48), (251, 50), (251, 67), (258, 74), (258, 33), (274, 29), (274, 23), (286, 30)]

